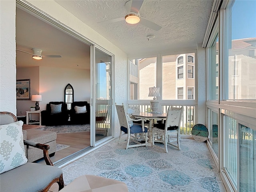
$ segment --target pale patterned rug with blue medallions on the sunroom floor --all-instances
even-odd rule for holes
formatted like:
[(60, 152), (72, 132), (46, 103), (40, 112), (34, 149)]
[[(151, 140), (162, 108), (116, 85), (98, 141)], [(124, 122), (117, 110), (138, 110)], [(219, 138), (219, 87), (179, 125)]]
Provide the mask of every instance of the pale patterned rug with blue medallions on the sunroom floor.
[[(161, 144), (159, 144), (161, 145)], [(125, 182), (129, 192), (225, 192), (206, 143), (182, 139), (181, 150), (125, 150), (118, 139), (62, 168), (64, 183), (92, 174)]]

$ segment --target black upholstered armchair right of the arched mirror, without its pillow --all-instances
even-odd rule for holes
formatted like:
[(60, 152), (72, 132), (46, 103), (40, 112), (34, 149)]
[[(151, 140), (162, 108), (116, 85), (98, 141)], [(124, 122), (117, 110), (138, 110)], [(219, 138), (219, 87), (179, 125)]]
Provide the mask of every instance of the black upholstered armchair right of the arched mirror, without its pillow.
[[(75, 106), (86, 106), (86, 113), (76, 113)], [(90, 124), (90, 104), (87, 101), (75, 101), (71, 104), (70, 124)]]

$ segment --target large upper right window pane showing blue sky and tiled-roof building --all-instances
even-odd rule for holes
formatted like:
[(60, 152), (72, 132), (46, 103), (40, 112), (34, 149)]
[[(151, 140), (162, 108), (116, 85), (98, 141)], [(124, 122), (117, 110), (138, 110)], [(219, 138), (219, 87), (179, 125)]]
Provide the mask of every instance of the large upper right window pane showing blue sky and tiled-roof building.
[(256, 100), (255, 1), (234, 1), (226, 9), (225, 100)]

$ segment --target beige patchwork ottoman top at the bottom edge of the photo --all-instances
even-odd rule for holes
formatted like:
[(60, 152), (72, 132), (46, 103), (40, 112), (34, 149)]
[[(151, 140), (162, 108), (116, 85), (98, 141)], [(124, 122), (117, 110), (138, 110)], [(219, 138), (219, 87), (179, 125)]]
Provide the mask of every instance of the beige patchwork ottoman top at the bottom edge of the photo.
[(128, 192), (124, 182), (95, 175), (82, 175), (60, 192)]

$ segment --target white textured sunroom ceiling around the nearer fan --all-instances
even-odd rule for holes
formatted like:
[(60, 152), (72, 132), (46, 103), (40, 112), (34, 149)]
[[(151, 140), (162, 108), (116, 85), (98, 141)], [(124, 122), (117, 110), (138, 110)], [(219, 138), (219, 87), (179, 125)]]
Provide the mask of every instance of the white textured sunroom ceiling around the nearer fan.
[[(161, 53), (166, 50), (196, 48), (203, 41), (212, 0), (144, 0), (140, 16), (162, 28), (154, 31), (142, 24), (124, 20), (98, 23), (124, 17), (127, 0), (56, 0), (58, 4), (102, 34), (128, 56)], [(147, 35), (155, 38), (147, 40)]]

